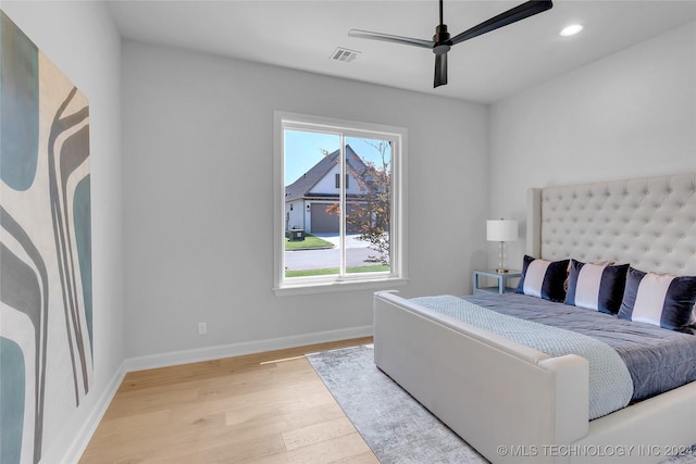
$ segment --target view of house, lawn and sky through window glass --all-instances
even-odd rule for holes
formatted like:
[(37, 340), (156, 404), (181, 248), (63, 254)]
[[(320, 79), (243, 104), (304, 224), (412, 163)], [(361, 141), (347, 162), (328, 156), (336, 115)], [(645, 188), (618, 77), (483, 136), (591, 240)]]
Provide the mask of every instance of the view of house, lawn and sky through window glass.
[(284, 147), (285, 277), (388, 273), (391, 143), (285, 129)]

